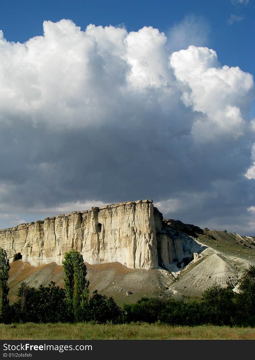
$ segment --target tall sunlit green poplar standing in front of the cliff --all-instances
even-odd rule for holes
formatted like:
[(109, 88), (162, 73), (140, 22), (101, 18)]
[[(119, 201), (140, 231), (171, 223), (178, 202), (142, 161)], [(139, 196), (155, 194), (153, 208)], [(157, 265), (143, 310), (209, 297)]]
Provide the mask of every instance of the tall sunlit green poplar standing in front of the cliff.
[(64, 287), (66, 291), (67, 314), (69, 321), (88, 319), (89, 281), (87, 268), (82, 255), (72, 249), (66, 252), (62, 261)]

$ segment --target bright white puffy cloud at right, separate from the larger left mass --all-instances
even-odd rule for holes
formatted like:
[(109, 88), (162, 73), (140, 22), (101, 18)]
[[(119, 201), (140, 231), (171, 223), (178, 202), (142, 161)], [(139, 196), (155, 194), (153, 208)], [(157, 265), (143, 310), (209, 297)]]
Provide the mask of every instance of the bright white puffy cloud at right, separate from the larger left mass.
[(173, 53), (171, 66), (191, 90), (184, 92), (184, 103), (206, 115), (193, 124), (198, 141), (223, 134), (235, 138), (243, 135), (253, 99), (251, 74), (238, 67), (220, 66), (214, 50), (196, 46)]

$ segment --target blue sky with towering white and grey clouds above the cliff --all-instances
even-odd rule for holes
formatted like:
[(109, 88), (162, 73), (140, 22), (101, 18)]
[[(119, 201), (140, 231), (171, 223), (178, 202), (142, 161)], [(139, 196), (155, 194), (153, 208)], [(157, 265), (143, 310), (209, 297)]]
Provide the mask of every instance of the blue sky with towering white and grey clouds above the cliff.
[(255, 236), (254, 0), (8, 1), (0, 228), (122, 201)]

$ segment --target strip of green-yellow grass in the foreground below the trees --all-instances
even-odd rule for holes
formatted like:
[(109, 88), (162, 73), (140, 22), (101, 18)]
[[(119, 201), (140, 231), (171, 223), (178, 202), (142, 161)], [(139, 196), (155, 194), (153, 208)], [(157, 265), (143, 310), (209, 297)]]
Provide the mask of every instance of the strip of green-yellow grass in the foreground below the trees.
[(255, 328), (161, 324), (0, 324), (1, 340), (255, 339)]

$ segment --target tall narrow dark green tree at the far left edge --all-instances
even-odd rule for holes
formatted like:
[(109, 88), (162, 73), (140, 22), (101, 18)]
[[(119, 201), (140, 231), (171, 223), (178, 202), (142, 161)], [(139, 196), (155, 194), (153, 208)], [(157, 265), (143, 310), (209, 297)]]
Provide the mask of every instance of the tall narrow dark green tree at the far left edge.
[(9, 316), (9, 299), (7, 298), (9, 287), (9, 270), (10, 262), (6, 251), (0, 248), (0, 317), (5, 323), (8, 322)]

